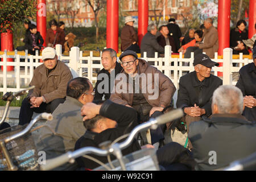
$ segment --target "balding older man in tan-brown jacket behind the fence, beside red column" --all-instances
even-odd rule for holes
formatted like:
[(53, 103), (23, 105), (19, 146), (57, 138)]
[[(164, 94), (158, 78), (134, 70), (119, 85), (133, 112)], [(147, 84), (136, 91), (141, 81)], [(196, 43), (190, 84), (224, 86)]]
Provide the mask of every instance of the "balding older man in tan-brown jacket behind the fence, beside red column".
[(213, 20), (211, 18), (204, 20), (204, 26), (203, 41), (196, 43), (195, 46), (203, 49), (203, 52), (213, 59), (214, 52), (218, 52), (218, 31), (213, 27)]

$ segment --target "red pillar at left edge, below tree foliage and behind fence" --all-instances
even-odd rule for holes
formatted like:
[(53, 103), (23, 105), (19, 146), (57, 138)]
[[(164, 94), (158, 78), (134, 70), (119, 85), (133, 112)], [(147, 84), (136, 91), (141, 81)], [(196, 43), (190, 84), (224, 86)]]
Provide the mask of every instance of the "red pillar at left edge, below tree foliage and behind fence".
[[(7, 30), (6, 33), (1, 34), (1, 51), (13, 51), (13, 32)], [(3, 60), (2, 60), (3, 61)], [(12, 58), (7, 58), (7, 61), (14, 61)], [(3, 66), (1, 68), (3, 70)], [(13, 66), (7, 66), (7, 71), (14, 71)]]

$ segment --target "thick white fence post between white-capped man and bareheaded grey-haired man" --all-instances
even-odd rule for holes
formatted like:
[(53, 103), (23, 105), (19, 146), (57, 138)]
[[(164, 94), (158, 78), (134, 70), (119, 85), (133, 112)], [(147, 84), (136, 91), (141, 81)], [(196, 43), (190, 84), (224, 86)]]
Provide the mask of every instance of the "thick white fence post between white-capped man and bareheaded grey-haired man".
[(71, 68), (73, 78), (79, 77), (79, 47), (72, 47), (69, 57), (69, 68)]

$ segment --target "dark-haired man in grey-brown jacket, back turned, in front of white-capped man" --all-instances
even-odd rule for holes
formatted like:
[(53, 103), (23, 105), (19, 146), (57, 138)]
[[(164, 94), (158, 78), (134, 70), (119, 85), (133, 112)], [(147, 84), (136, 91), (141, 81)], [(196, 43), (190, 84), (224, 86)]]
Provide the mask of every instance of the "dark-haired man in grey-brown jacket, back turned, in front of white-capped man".
[[(47, 121), (39, 133), (37, 148), (46, 152), (47, 159), (74, 150), (76, 141), (85, 133), (81, 107), (92, 102), (93, 97), (93, 86), (88, 78), (77, 77), (68, 82), (65, 102), (56, 108), (52, 113), (53, 120)], [(57, 169), (71, 167), (74, 165), (65, 164)]]

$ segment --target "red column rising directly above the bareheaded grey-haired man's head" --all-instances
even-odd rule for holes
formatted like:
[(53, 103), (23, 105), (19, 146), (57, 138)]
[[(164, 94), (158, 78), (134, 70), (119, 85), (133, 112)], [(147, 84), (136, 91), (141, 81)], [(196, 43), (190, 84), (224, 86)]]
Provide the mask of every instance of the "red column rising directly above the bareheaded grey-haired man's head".
[(118, 0), (107, 0), (106, 47), (118, 52)]

